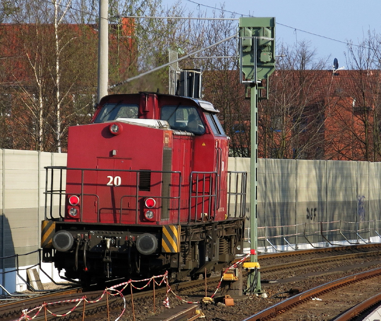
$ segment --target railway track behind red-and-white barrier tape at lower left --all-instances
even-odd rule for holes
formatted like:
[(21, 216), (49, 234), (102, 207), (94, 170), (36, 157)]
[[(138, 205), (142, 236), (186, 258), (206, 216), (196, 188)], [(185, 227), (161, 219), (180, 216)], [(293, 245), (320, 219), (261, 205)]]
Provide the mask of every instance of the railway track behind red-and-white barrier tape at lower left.
[[(218, 279), (219, 276), (214, 276), (208, 278), (208, 282), (217, 283)], [(173, 293), (182, 292), (192, 294), (194, 291), (199, 292), (200, 288), (203, 288), (203, 291), (205, 291), (205, 280), (203, 279), (170, 285), (170, 289)], [(120, 289), (118, 291), (120, 291)], [(163, 304), (166, 300), (166, 293), (168, 292), (167, 287), (156, 288), (155, 294), (153, 290), (149, 290), (133, 292), (131, 296), (131, 294), (128, 294), (130, 293), (129, 291), (130, 287), (126, 287), (123, 291), (123, 295), (114, 295), (115, 292), (112, 291), (108, 291), (108, 293), (105, 291), (82, 292), (82, 289), (70, 289), (54, 294), (17, 300), (0, 305), (0, 320), (13, 321), (30, 318), (33, 318), (35, 321), (60, 320), (62, 319), (61, 316), (67, 318), (70, 315), (70, 320), (82, 321), (83, 314), (85, 314), (86, 320), (115, 320), (122, 314), (121, 311), (126, 307), (126, 311), (123, 312), (123, 319), (133, 320), (135, 319), (135, 315), (149, 317), (153, 314), (152, 311), (154, 310), (155, 312), (168, 310)], [(84, 300), (84, 298), (86, 298), (86, 300)], [(45, 302), (50, 302), (50, 304), (46, 306), (46, 310), (42, 307)], [(73, 308), (76, 305), (77, 307)], [(195, 312), (195, 307), (190, 308), (188, 304), (183, 304), (182, 306), (182, 308), (177, 308), (176, 313), (178, 316), (173, 319), (173, 321), (189, 319), (191, 316), (198, 314)], [(176, 305), (168, 303), (168, 307), (175, 308)], [(25, 318), (23, 317), (23, 310), (32, 312)]]

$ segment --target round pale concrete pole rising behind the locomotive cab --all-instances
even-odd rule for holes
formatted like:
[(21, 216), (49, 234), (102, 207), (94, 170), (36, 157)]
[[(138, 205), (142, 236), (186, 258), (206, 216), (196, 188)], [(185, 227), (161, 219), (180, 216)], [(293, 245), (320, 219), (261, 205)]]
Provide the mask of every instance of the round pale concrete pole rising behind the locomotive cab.
[(97, 101), (107, 95), (109, 83), (109, 1), (99, 0), (98, 30), (98, 97)]

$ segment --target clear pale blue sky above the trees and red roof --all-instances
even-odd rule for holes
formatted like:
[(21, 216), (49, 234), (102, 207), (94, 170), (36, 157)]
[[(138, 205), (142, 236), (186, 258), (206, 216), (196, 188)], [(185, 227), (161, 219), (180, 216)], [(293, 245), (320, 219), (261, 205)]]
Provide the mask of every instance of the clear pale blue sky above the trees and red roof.
[[(163, 0), (163, 5), (173, 2)], [(181, 3), (194, 12), (198, 8), (207, 11), (209, 17), (213, 11), (210, 7), (221, 8), (221, 4), (225, 5), (225, 10), (242, 15), (275, 17), (277, 41), (289, 45), (301, 40), (311, 41), (311, 48), (316, 48), (319, 57), (331, 55), (329, 61), (332, 63), (336, 57), (339, 67), (347, 67), (343, 54), (347, 46), (341, 42), (352, 40), (358, 44), (369, 29), (381, 33), (381, 0), (181, 0)]]

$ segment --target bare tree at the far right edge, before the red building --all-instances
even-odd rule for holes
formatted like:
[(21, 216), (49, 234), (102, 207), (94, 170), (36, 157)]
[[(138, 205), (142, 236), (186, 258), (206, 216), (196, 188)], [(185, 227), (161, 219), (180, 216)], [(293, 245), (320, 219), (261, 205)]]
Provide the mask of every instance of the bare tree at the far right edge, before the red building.
[(348, 145), (341, 152), (345, 159), (377, 161), (381, 157), (380, 49), (379, 34), (370, 30), (359, 44), (348, 46), (351, 91), (341, 92), (341, 97), (350, 97), (352, 104), (346, 104), (343, 110), (352, 117), (342, 120), (347, 137), (347, 144), (343, 145)]

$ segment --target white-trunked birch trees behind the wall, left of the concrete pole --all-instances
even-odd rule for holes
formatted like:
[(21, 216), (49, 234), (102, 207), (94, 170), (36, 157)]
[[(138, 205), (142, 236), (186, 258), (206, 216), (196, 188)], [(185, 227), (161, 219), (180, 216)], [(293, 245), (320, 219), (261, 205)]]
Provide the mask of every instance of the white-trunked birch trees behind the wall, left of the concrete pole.
[[(43, 8), (35, 3), (23, 4), (13, 16), (15, 22), (21, 22), (1, 26), (2, 34), (6, 35), (0, 43), (4, 53), (1, 66), (4, 71), (3, 92), (12, 97), (12, 108), (5, 116), (12, 137), (8, 147), (57, 151), (61, 150), (61, 139), (66, 135), (66, 126), (71, 123), (68, 116), (76, 113), (70, 101), (77, 93), (86, 91), (84, 85), (88, 84), (83, 81), (82, 88), (77, 86), (78, 78), (87, 77), (85, 71), (91, 68), (91, 59), (85, 62), (83, 57), (96, 53), (96, 50), (85, 50), (91, 48), (90, 39), (86, 39), (86, 45), (83, 45), (83, 39), (72, 40), (78, 33), (96, 40), (96, 33), (74, 25), (59, 27), (65, 14), (62, 11), (58, 19), (58, 8), (62, 8), (58, 3), (51, 8), (43, 2), (44, 14)], [(49, 16), (51, 13), (53, 16)], [(79, 59), (81, 54), (82, 59)], [(77, 65), (77, 70), (73, 64)], [(94, 87), (91, 85), (91, 92)], [(63, 113), (62, 107), (65, 107)], [(86, 109), (88, 107), (87, 104)], [(81, 109), (77, 112), (81, 113)]]

